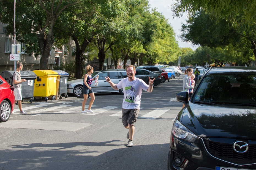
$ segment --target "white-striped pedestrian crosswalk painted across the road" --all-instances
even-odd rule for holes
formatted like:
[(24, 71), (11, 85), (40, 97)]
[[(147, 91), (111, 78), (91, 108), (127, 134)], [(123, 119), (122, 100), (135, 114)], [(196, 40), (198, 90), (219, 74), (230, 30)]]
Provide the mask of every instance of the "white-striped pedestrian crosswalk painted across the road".
[[(96, 108), (96, 105), (92, 106), (92, 111), (94, 113), (81, 113), (82, 106), (73, 106), (72, 104), (58, 104), (57, 106), (54, 104), (37, 104), (34, 106), (28, 106), (23, 107), (23, 110), (25, 110), (28, 115), (30, 116), (38, 116), (43, 114), (69, 114), (69, 113), (79, 113), (80, 115), (97, 115), (97, 114), (111, 114), (108, 116), (114, 116), (114, 117), (122, 117), (122, 107), (119, 106), (106, 106), (102, 108)], [(88, 108), (88, 105), (85, 106), (85, 108)], [(141, 109), (143, 109), (141, 111)], [(156, 119), (161, 117), (163, 114), (168, 112), (170, 109), (145, 109), (144, 107), (140, 108), (139, 118), (144, 119)], [(19, 114), (19, 109), (14, 109), (13, 112), (16, 112), (16, 114)]]

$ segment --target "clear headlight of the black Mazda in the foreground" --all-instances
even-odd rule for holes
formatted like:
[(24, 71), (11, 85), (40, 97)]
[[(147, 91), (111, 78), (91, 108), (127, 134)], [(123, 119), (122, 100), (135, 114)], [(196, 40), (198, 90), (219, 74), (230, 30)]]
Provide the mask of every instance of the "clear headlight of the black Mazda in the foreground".
[(187, 129), (178, 120), (174, 122), (172, 130), (175, 137), (185, 140), (187, 142), (194, 142), (197, 139), (197, 135)]

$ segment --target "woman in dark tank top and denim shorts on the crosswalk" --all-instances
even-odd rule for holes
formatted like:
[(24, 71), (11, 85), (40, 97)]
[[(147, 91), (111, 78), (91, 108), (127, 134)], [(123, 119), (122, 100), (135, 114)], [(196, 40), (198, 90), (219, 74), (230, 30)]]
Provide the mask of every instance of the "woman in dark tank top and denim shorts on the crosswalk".
[[(93, 73), (93, 67), (88, 65), (86, 67), (87, 73), (84, 76), (84, 83), (83, 83), (83, 95), (84, 95), (84, 100), (82, 103), (82, 113), (93, 113), (93, 111), (91, 110), (92, 104), (95, 100), (95, 96), (94, 96), (94, 92), (92, 90), (92, 81), (96, 80), (96, 78), (92, 78), (92, 73)], [(99, 77), (99, 75), (97, 75), (97, 78)], [(89, 103), (89, 107), (87, 109), (87, 111), (85, 111), (85, 103), (87, 101), (87, 97), (88, 94), (91, 96), (91, 101)]]

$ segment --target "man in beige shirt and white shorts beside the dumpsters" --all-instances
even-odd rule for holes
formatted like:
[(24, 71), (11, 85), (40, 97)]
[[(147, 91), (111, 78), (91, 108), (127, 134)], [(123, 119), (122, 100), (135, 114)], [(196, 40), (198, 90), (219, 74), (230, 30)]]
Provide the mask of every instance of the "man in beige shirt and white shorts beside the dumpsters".
[(21, 82), (27, 81), (25, 79), (21, 79), (21, 75), (20, 75), (20, 70), (22, 70), (23, 65), (21, 63), (17, 63), (17, 69), (16, 71), (13, 73), (13, 78), (12, 78), (12, 85), (14, 87), (14, 96), (15, 96), (15, 103), (18, 101), (18, 106), (20, 109), (20, 114), (27, 114), (27, 112), (22, 110), (21, 107), (21, 101), (22, 101), (22, 96), (21, 96)]

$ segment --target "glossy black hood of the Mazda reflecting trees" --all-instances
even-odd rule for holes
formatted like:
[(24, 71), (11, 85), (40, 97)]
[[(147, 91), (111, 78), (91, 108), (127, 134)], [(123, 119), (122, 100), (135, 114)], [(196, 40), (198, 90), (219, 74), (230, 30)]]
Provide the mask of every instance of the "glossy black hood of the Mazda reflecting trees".
[(199, 137), (256, 139), (255, 109), (189, 103), (178, 119)]

